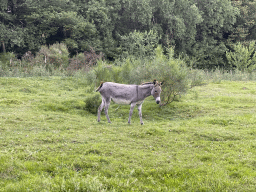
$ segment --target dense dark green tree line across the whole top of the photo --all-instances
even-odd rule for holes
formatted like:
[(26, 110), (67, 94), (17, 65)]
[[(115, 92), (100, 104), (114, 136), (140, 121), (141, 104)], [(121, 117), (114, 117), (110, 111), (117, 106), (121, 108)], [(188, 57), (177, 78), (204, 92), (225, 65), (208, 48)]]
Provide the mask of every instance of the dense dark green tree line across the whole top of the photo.
[[(158, 44), (193, 67), (229, 68), (232, 45), (254, 41), (255, 0), (0, 0), (0, 52), (22, 58), (66, 44), (69, 56), (150, 57)], [(245, 43), (246, 45), (246, 43)], [(1, 64), (2, 65), (2, 64)]]

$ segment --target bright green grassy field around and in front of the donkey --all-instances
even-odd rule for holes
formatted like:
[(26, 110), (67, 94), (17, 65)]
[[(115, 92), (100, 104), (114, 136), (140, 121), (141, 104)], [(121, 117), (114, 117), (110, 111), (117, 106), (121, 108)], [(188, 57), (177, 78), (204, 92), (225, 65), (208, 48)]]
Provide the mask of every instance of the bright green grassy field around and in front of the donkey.
[(255, 191), (256, 82), (193, 87), (159, 108), (84, 110), (81, 78), (0, 78), (0, 191)]

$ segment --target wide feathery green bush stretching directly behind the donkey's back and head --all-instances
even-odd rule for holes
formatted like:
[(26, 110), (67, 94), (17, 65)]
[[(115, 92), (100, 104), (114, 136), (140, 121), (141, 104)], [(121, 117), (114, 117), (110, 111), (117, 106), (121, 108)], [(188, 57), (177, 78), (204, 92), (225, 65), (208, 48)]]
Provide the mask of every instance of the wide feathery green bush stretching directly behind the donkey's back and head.
[(188, 89), (188, 69), (181, 59), (175, 59), (173, 55), (172, 48), (169, 49), (169, 55), (165, 56), (162, 47), (158, 47), (155, 49), (154, 59), (151, 60), (127, 58), (118, 65), (107, 65), (99, 61), (98, 65), (88, 73), (90, 77), (88, 82), (97, 87), (101, 81), (128, 84), (152, 82), (154, 79), (164, 81), (161, 96), (162, 105), (166, 105)]

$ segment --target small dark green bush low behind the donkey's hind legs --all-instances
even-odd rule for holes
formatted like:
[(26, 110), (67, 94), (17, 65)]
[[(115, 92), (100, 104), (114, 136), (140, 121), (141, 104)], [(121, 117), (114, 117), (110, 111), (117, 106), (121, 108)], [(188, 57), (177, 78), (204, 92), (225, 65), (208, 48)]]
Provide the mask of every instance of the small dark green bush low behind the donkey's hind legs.
[(85, 109), (90, 113), (97, 114), (100, 104), (101, 96), (99, 93), (93, 93), (85, 99)]

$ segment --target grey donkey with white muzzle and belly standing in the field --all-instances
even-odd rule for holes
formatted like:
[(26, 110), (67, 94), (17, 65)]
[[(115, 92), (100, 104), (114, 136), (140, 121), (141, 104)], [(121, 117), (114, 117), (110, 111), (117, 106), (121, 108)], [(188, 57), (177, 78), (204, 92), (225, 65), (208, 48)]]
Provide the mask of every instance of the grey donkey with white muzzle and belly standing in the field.
[(117, 104), (131, 105), (128, 123), (131, 123), (131, 117), (135, 105), (138, 106), (140, 123), (143, 125), (142, 121), (142, 103), (144, 99), (152, 95), (156, 103), (160, 103), (161, 85), (163, 83), (158, 83), (156, 80), (150, 83), (143, 83), (142, 85), (125, 85), (119, 83), (105, 82), (101, 83), (96, 91), (99, 91), (102, 96), (102, 103), (98, 108), (98, 122), (100, 122), (100, 114), (104, 108), (105, 115), (109, 123), (111, 123), (108, 116), (108, 108), (110, 101), (114, 101)]

